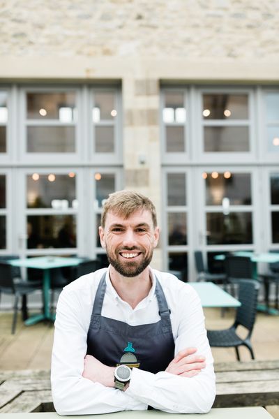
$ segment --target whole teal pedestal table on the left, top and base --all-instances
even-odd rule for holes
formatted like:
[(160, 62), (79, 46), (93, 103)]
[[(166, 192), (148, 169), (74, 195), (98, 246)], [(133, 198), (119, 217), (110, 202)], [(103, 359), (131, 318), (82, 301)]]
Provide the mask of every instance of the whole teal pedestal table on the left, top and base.
[(58, 256), (41, 256), (38, 258), (24, 258), (8, 260), (8, 263), (18, 267), (31, 267), (43, 270), (43, 302), (44, 311), (42, 314), (36, 314), (29, 317), (24, 324), (33, 325), (39, 321), (55, 320), (55, 314), (50, 313), (50, 270), (55, 267), (76, 266), (82, 261), (81, 258), (61, 258)]

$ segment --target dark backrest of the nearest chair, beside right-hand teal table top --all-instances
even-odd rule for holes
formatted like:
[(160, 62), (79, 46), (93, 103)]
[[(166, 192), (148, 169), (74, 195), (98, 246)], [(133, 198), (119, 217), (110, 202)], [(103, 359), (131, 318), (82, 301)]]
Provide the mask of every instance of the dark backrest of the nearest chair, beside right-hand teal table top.
[(241, 306), (236, 310), (236, 324), (252, 332), (257, 314), (257, 294), (259, 283), (254, 279), (239, 279), (239, 301)]

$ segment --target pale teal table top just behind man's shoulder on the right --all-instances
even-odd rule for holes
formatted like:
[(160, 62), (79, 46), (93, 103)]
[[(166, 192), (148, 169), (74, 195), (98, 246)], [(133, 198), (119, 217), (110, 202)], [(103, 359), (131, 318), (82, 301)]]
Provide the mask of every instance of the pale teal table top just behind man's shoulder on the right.
[(241, 302), (213, 282), (188, 282), (195, 288), (202, 307), (239, 307)]

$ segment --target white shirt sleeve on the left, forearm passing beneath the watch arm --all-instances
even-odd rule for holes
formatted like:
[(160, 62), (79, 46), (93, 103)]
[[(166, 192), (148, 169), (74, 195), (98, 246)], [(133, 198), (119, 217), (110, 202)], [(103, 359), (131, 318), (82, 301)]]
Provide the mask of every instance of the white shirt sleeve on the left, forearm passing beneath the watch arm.
[(56, 309), (52, 350), (52, 398), (59, 415), (86, 415), (145, 410), (146, 404), (126, 392), (83, 378), (86, 322), (74, 293), (62, 291)]

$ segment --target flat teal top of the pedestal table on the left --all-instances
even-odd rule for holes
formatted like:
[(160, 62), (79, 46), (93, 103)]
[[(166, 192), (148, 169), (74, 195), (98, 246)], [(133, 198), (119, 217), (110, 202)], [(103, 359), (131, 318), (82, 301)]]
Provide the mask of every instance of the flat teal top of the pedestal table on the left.
[(81, 258), (61, 258), (60, 256), (40, 256), (38, 258), (24, 258), (9, 260), (10, 265), (20, 267), (34, 267), (36, 269), (52, 269), (54, 267), (75, 266)]

